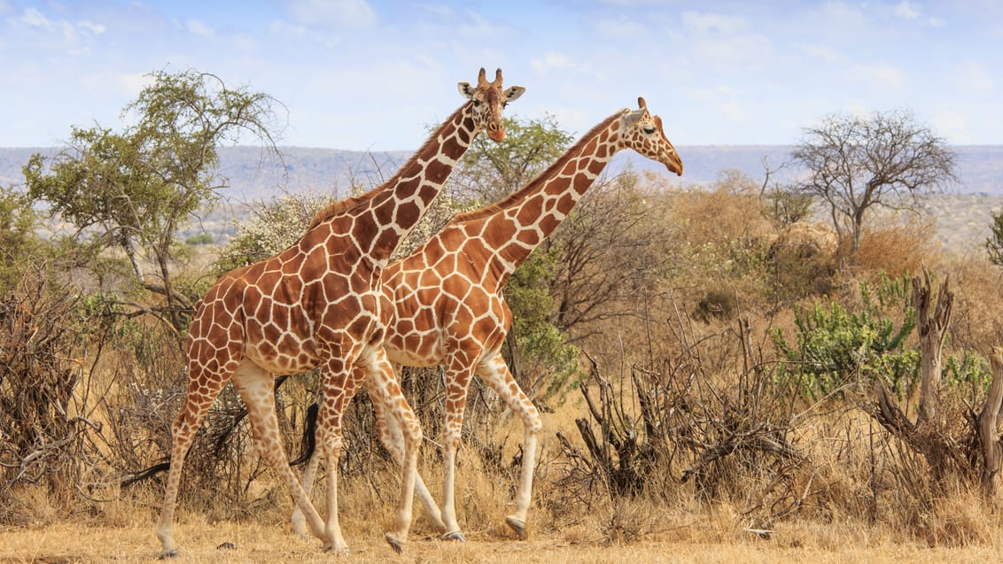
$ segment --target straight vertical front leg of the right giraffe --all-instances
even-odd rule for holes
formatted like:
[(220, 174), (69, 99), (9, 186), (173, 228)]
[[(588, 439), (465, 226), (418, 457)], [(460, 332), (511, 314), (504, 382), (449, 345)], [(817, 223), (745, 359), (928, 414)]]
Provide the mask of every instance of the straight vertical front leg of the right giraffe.
[(466, 390), (475, 367), (475, 355), (467, 355), (462, 351), (454, 352), (450, 354), (446, 367), (445, 425), (442, 428), (442, 522), (446, 530), (442, 538), (445, 540), (466, 540), (456, 521), (456, 449), (459, 448)]

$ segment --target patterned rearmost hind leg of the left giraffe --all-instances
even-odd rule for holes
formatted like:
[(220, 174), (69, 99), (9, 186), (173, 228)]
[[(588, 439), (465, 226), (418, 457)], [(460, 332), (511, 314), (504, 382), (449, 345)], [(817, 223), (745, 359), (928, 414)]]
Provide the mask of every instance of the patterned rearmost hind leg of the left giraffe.
[[(163, 505), (160, 506), (160, 522), (156, 527), (156, 538), (159, 539), (161, 548), (158, 555), (160, 559), (178, 556), (178, 545), (175, 543), (175, 507), (178, 503), (178, 490), (181, 488), (185, 457), (195, 440), (196, 431), (199, 430), (210, 406), (227, 382), (227, 378), (220, 375), (215, 379), (201, 378), (202, 371), (197, 367), (190, 366), (189, 371), (185, 404), (171, 429), (171, 469), (168, 472), (168, 485), (163, 492)], [(200, 383), (205, 384), (205, 387)]]

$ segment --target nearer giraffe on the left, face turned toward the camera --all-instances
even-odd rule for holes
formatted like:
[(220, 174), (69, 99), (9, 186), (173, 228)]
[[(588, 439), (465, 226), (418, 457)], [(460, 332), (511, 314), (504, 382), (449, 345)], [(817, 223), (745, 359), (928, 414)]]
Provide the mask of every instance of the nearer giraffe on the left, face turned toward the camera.
[[(188, 389), (173, 427), (171, 470), (156, 536), (161, 557), (178, 555), (174, 511), (185, 456), (200, 423), (231, 380), (248, 410), (262, 457), (285, 480), (310, 531), (326, 550), (347, 552), (337, 513), (337, 460), (343, 410), (361, 385), (386, 406), (403, 435), (401, 495), (394, 530), (385, 537), (400, 552), (411, 521), (421, 429), (381, 347), (390, 312), (383, 308), (380, 272), (397, 243), (469, 147), (486, 129), (505, 139), (501, 108), (525, 88), (488, 82), (458, 83), (467, 101), (441, 124), (398, 172), (370, 191), (322, 209), (306, 233), (278, 254), (224, 274), (200, 301), (187, 341)], [(323, 522), (289, 467), (279, 442), (274, 380), (321, 369), (323, 401), (317, 444), (327, 469), (327, 521)], [(355, 369), (355, 370), (353, 370)]]

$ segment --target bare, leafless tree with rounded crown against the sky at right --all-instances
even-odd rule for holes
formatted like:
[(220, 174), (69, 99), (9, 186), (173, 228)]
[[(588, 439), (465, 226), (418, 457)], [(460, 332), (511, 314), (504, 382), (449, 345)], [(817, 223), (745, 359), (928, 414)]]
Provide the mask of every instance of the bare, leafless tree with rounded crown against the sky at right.
[(919, 192), (955, 179), (954, 152), (906, 110), (828, 115), (804, 130), (792, 156), (807, 170), (796, 189), (828, 205), (851, 260), (869, 209), (914, 208)]

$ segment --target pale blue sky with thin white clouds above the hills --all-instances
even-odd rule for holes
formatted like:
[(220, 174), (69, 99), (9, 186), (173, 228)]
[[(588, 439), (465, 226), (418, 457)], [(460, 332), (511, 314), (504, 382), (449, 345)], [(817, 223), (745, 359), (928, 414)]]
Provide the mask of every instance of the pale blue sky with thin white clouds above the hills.
[(677, 145), (794, 143), (825, 114), (897, 108), (1003, 144), (998, 0), (0, 0), (0, 146), (118, 128), (144, 74), (196, 69), (285, 104), (280, 144), (411, 149), (481, 66), (527, 87), (510, 115), (576, 134), (643, 95)]

